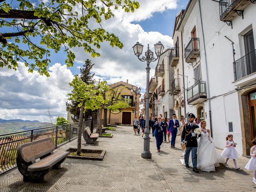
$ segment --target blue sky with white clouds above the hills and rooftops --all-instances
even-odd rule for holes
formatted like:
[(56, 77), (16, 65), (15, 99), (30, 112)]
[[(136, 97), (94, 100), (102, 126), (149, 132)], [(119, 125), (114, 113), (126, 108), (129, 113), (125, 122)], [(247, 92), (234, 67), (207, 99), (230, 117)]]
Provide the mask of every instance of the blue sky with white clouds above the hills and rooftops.
[[(46, 1), (46, 0), (45, 0)], [(108, 80), (109, 83), (123, 80), (142, 88), (146, 87), (146, 63), (140, 62), (134, 56), (132, 46), (140, 41), (146, 49), (154, 50), (154, 44), (159, 40), (165, 48), (172, 47), (172, 33), (175, 16), (185, 9), (188, 0), (138, 0), (140, 9), (134, 13), (115, 12), (115, 17), (103, 22), (102, 25), (109, 32), (113, 32), (124, 44), (124, 48), (112, 48), (108, 42), (103, 43), (99, 58), (92, 58), (81, 48), (73, 48), (76, 55), (75, 64), (67, 68), (64, 52), (55, 54), (52, 51), (49, 66), (50, 78), (28, 73), (24, 65), (20, 64), (17, 71), (0, 68), (0, 118), (23, 120), (40, 120), (47, 122), (48, 108), (52, 116), (66, 118), (67, 94), (72, 90), (68, 82), (75, 74), (80, 73), (80, 67), (88, 58), (95, 63), (93, 71), (96, 80)], [(6, 2), (11, 2), (7, 0)], [(16, 1), (12, 1), (14, 4)], [(4, 32), (1, 29), (1, 32)], [(154, 75), (156, 62), (150, 64), (150, 76)], [(7, 84), (8, 82), (8, 84)]]

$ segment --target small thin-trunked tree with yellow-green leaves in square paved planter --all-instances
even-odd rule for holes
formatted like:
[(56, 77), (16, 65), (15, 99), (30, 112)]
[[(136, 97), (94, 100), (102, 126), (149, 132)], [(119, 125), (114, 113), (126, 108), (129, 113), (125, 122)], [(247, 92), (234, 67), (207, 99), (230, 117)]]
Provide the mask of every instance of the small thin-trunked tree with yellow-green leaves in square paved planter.
[[(78, 75), (74, 76), (72, 82), (69, 83), (73, 87), (72, 93), (68, 94), (69, 100), (76, 100), (79, 104), (80, 115), (78, 123), (78, 145), (77, 154), (81, 153), (81, 136), (82, 136), (82, 118), (84, 110), (99, 110), (102, 108), (104, 93), (109, 90), (106, 81), (98, 82), (98, 84), (86, 84)], [(101, 119), (98, 119), (101, 122)], [(97, 132), (101, 132), (102, 127), (97, 126)]]

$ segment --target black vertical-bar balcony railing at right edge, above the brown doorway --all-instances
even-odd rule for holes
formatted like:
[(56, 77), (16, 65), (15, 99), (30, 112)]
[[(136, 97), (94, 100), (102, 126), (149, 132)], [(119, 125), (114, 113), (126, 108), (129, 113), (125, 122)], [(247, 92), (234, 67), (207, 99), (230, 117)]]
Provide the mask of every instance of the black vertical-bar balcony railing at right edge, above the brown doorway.
[(256, 72), (256, 50), (236, 60), (233, 65), (235, 81)]

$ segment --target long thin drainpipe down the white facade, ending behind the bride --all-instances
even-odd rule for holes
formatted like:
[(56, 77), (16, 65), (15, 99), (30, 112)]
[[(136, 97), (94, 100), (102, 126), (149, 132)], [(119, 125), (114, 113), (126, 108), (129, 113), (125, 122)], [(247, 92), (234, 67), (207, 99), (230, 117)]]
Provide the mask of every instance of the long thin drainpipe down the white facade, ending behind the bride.
[(205, 60), (205, 66), (206, 66), (206, 78), (207, 78), (207, 97), (208, 97), (208, 105), (209, 105), (209, 118), (210, 118), (210, 131), (211, 136), (213, 138), (213, 132), (212, 132), (212, 107), (211, 107), (211, 100), (210, 100), (210, 82), (209, 82), (209, 74), (208, 74), (208, 65), (207, 65), (207, 58), (206, 58), (206, 49), (205, 49), (205, 42), (204, 42), (204, 28), (203, 28), (203, 22), (202, 22), (202, 11), (201, 11), (201, 2), (198, 0), (199, 4), (199, 12), (200, 12), (200, 20), (201, 20), (201, 26), (202, 26), (202, 34), (203, 34), (203, 44), (204, 44), (204, 60)]

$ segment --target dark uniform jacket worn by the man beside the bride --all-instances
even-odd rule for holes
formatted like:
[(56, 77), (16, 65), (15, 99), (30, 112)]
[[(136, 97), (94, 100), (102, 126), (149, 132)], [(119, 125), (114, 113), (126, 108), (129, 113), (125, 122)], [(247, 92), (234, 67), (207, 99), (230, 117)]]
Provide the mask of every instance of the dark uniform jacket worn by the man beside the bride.
[[(194, 124), (192, 127), (190, 126), (190, 124), (186, 124), (184, 126), (182, 134), (181, 134), (181, 141), (183, 141), (183, 140), (187, 141), (186, 147), (197, 147), (196, 136), (192, 137), (192, 133), (194, 132), (194, 130), (196, 128), (199, 128), (199, 126), (196, 124)], [(190, 132), (190, 134), (188, 134), (188, 132)], [(186, 136), (186, 138), (185, 138), (185, 136)], [(201, 136), (201, 134), (198, 135), (198, 137), (200, 137), (200, 136)]]

